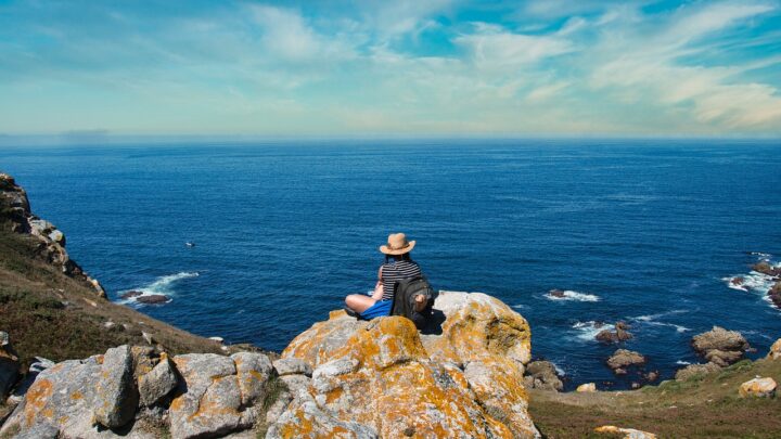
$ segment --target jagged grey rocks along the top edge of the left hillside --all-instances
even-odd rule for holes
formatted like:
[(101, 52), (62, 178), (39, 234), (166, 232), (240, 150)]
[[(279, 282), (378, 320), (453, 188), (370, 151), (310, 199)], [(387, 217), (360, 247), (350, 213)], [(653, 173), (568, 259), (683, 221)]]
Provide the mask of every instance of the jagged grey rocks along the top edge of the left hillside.
[(36, 237), (39, 242), (39, 257), (59, 267), (69, 277), (89, 285), (100, 297), (106, 297), (101, 284), (68, 256), (65, 250), (65, 234), (51, 222), (33, 215), (25, 190), (16, 184), (13, 177), (0, 173), (0, 227), (4, 224), (13, 232)]

